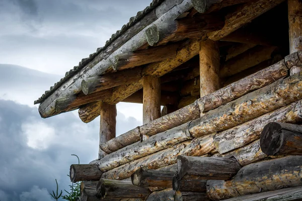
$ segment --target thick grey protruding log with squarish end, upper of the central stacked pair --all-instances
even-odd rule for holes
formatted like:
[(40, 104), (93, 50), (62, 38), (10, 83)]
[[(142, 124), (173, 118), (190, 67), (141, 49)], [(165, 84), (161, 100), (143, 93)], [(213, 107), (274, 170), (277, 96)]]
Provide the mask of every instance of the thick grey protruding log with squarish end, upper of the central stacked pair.
[(177, 176), (201, 176), (203, 179), (231, 179), (241, 168), (235, 158), (177, 156)]

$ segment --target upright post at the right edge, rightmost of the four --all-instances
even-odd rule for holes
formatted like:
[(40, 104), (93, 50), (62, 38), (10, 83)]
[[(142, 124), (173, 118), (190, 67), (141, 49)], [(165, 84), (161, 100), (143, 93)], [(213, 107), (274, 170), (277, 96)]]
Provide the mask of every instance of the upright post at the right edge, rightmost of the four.
[[(302, 0), (288, 0), (290, 54), (302, 50)], [(290, 75), (300, 72), (302, 66), (290, 69)]]

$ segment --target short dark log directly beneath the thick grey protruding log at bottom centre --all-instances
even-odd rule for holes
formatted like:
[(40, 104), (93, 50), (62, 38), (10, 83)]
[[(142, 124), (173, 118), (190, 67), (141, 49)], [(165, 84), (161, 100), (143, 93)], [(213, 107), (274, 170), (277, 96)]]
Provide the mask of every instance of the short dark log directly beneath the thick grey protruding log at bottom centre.
[(202, 176), (185, 175), (181, 179), (176, 174), (173, 176), (173, 190), (206, 192), (206, 181)]

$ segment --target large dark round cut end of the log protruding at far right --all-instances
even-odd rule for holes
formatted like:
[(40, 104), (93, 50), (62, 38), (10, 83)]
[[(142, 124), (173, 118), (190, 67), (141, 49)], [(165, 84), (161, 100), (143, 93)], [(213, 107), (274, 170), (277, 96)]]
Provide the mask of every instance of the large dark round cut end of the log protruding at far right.
[(260, 135), (260, 148), (263, 153), (272, 156), (279, 151), (283, 142), (281, 128), (277, 122), (268, 123), (263, 128)]

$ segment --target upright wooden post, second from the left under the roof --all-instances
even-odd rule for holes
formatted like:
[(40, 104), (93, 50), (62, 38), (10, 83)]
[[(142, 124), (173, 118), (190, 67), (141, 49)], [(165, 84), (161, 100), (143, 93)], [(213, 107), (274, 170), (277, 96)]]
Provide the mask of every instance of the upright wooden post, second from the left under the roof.
[(143, 124), (161, 117), (161, 79), (143, 77)]

